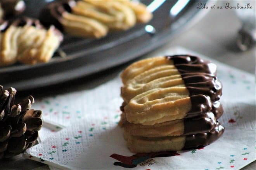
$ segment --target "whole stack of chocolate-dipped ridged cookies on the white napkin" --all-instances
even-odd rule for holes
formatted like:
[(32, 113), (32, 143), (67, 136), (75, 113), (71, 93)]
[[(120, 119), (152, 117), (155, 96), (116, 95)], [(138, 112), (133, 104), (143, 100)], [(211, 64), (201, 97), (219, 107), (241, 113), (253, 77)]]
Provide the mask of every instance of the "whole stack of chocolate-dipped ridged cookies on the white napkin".
[(223, 134), (222, 85), (213, 63), (160, 56), (133, 63), (121, 78), (119, 125), (133, 153), (200, 148)]

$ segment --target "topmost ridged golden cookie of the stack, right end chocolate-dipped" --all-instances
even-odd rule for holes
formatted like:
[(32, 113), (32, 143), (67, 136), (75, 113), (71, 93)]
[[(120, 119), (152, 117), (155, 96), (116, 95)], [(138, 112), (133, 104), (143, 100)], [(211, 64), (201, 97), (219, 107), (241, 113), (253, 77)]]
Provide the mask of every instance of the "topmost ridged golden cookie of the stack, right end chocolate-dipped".
[(216, 65), (194, 56), (133, 63), (121, 74), (127, 120), (153, 125), (209, 112), (211, 102), (221, 96), (222, 85), (215, 74)]

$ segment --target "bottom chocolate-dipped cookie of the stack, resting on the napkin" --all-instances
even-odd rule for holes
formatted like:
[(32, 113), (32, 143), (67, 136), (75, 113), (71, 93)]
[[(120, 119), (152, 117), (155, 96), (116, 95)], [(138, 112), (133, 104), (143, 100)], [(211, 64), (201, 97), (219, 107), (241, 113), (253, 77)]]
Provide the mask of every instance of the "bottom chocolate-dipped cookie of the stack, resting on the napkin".
[(216, 141), (224, 132), (224, 127), (217, 122), (216, 127), (206, 133), (197, 133), (187, 136), (166, 136), (147, 138), (131, 136), (124, 133), (127, 147), (133, 153), (150, 153), (160, 151), (178, 151), (201, 148)]

